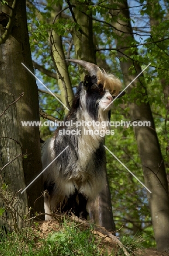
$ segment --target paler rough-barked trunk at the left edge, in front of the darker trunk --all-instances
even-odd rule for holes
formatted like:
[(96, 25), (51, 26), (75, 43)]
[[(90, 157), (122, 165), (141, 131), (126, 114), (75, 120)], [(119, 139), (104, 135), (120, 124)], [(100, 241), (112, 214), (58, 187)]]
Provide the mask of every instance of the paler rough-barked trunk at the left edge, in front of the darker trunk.
[[(0, 114), (2, 114), (9, 104), (14, 102), (14, 97), (12, 94), (0, 92), (0, 102)], [(10, 106), (0, 118), (0, 155), (0, 169), (16, 158), (16, 156), (22, 155), (15, 105)], [(22, 222), (23, 216), (28, 214), (26, 191), (23, 194), (17, 193), (17, 191), (25, 188), (22, 158), (18, 157), (14, 162), (6, 166), (1, 171), (1, 177), (0, 207), (5, 209), (9, 207), (9, 210), (4, 212), (0, 225), (5, 226), (6, 230), (11, 231), (16, 225), (16, 217), (18, 228), (22, 228), (24, 225)], [(8, 189), (3, 189), (3, 183), (8, 185)], [(9, 201), (11, 201), (14, 195), (16, 195), (14, 201), (10, 203)], [(10, 206), (13, 206), (16, 212), (10, 211)]]

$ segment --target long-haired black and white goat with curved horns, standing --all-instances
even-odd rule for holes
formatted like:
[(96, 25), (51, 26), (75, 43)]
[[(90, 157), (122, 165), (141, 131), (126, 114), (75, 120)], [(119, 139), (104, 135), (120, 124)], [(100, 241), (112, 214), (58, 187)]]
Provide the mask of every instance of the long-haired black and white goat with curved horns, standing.
[[(62, 212), (71, 210), (77, 217), (86, 219), (87, 202), (102, 190), (105, 179), (104, 136), (94, 131), (109, 130), (111, 105), (108, 104), (119, 94), (121, 83), (113, 74), (101, 71), (93, 63), (67, 61), (85, 67), (89, 75), (79, 84), (71, 109), (65, 117), (65, 122), (72, 120), (71, 126), (58, 127), (44, 145), (43, 168), (69, 146), (44, 172), (44, 190), (47, 190), (45, 213), (51, 214), (51, 211), (56, 212), (61, 208)], [(96, 121), (100, 124), (104, 121), (104, 127), (96, 125)], [(80, 132), (73, 134), (79, 122), (86, 122), (85, 126), (78, 127)], [(86, 135), (87, 130), (93, 133)], [(51, 219), (47, 214), (45, 219)]]

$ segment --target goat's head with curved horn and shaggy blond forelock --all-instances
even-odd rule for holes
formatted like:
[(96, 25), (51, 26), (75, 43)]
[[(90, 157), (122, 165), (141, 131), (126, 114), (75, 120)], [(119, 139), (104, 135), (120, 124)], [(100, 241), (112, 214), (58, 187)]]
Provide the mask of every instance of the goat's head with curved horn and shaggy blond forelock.
[[(77, 88), (73, 107), (80, 104), (82, 109), (86, 109), (90, 117), (98, 119), (98, 113), (110, 104), (114, 97), (119, 94), (122, 87), (120, 80), (113, 74), (107, 74), (104, 70), (93, 63), (68, 59), (67, 61), (75, 62), (87, 69), (89, 75), (85, 76), (83, 82)], [(105, 109), (105, 114), (112, 107), (112, 104)]]

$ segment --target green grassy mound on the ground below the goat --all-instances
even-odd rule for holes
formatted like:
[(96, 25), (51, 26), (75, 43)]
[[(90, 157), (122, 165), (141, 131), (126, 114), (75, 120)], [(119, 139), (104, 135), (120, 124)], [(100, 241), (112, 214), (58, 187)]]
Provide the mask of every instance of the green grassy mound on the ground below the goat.
[[(104, 238), (93, 233), (93, 226), (84, 228), (81, 224), (65, 221), (60, 228), (42, 238), (38, 224), (34, 228), (24, 228), (19, 233), (11, 232), (0, 237), (1, 256), (56, 256), (56, 255), (125, 255), (122, 249), (107, 245)], [(2, 233), (1, 233), (2, 234)], [(123, 237), (126, 251), (138, 248), (140, 241)], [(133, 245), (133, 246), (132, 246)], [(115, 246), (116, 247), (116, 246)], [(132, 254), (130, 254), (132, 255)]]

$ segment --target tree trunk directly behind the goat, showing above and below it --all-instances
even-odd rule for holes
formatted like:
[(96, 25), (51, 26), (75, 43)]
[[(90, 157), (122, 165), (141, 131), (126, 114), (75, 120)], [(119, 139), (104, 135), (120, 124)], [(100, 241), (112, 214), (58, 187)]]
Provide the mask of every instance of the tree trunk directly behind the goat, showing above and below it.
[[(85, 12), (87, 10), (88, 7), (85, 3), (83, 5), (83, 11)], [(93, 43), (92, 18), (88, 18), (87, 15), (81, 13), (81, 11), (78, 10), (78, 7), (74, 8), (74, 15), (74, 19), (76, 20), (77, 24), (80, 25), (79, 31), (75, 31), (73, 34), (76, 59), (96, 63)], [(84, 69), (82, 67), (78, 68), (81, 74), (81, 80), (83, 80), (85, 77)], [(90, 203), (89, 216), (90, 220), (92, 220), (94, 223), (100, 226), (104, 226), (109, 231), (115, 231), (116, 227), (113, 220), (111, 195), (108, 185), (106, 164), (104, 168), (106, 173), (105, 187), (104, 190), (101, 191), (99, 196), (96, 197), (95, 201)]]

